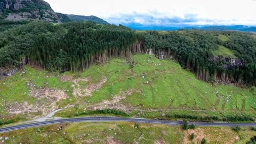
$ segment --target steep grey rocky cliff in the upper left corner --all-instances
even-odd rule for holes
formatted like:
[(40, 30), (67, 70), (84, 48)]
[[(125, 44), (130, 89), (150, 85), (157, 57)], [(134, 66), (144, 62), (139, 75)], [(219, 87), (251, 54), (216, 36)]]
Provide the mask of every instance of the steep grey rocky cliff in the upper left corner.
[(42, 0), (0, 0), (0, 13), (2, 19), (9, 21), (44, 20), (55, 23), (61, 22), (50, 5)]

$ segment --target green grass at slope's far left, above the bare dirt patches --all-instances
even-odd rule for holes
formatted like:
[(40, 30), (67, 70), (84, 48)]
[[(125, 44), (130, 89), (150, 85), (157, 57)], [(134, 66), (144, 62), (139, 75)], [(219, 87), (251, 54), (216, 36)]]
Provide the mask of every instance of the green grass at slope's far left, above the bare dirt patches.
[[(48, 73), (45, 70), (36, 70), (25, 66), (23, 70), (18, 71), (14, 76), (5, 77), (0, 81), (0, 99), (4, 99), (5, 103), (9, 105), (21, 104), (24, 101), (33, 105), (36, 103), (37, 98), (31, 97), (31, 87), (34, 86), (37, 89), (47, 87), (66, 91), (66, 94), (71, 97), (59, 102), (60, 107), (62, 107), (75, 102), (72, 94), (72, 84), (72, 82), (62, 82), (56, 73)], [(4, 107), (4, 103), (1, 103), (0, 115), (8, 117), (9, 114)]]

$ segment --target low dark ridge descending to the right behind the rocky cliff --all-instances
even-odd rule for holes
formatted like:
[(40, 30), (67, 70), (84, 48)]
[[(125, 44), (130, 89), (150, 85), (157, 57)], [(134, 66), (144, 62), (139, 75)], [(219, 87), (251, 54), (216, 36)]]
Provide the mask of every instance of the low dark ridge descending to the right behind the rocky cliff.
[(96, 23), (99, 23), (99, 24), (102, 24), (102, 25), (110, 25), (110, 23), (108, 23), (107, 21), (104, 21), (104, 20), (102, 20), (99, 17), (94, 16), (94, 15), (91, 15), (91, 16), (69, 15), (69, 14), (63, 14), (63, 15), (66, 15), (72, 21), (92, 21), (92, 22), (96, 22)]

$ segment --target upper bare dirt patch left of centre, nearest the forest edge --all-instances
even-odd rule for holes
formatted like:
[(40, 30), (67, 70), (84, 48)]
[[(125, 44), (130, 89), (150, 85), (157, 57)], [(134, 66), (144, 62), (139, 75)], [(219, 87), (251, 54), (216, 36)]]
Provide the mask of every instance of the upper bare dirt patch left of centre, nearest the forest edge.
[(96, 91), (97, 89), (99, 89), (105, 82), (107, 82), (107, 77), (103, 77), (101, 79), (100, 82), (98, 83), (90, 83), (88, 86), (85, 87), (81, 87), (78, 82), (79, 81), (86, 81), (89, 82), (90, 79), (89, 78), (85, 78), (85, 79), (78, 79), (78, 80), (73, 80), (73, 82), (75, 83), (75, 85), (73, 85), (72, 87), (74, 87), (74, 91), (73, 91), (73, 95), (78, 96), (78, 97), (86, 97), (86, 96), (91, 96), (91, 93)]

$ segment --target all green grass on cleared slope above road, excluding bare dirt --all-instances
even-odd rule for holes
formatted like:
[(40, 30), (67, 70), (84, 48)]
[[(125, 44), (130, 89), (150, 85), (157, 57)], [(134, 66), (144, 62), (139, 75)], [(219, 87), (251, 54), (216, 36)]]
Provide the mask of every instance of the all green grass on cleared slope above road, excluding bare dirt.
[[(212, 86), (197, 80), (193, 73), (183, 70), (174, 61), (161, 61), (150, 57), (149, 55), (133, 56), (135, 62), (133, 68), (124, 59), (112, 59), (106, 64), (90, 67), (79, 77), (72, 77), (69, 73), (61, 75), (78, 80), (79, 86), (76, 87), (82, 89), (94, 83), (97, 85), (103, 77), (107, 78), (107, 82), (92, 92), (91, 96), (85, 97), (73, 95), (71, 86), (74, 83), (61, 81), (58, 77), (59, 74), (50, 74), (43, 70), (25, 67), (25, 73), (20, 71), (13, 77), (7, 77), (0, 81), (0, 99), (5, 100), (7, 104), (27, 101), (33, 105), (37, 98), (29, 95), (30, 87), (27, 86), (27, 83), (31, 82), (36, 88), (49, 87), (65, 91), (71, 99), (61, 100), (57, 103), (59, 107), (78, 101), (74, 108), (57, 113), (57, 116), (63, 117), (73, 116), (75, 112), (85, 108), (90, 109), (104, 100), (112, 100), (115, 95), (124, 95), (131, 89), (131, 95), (126, 95), (124, 100), (118, 102), (132, 110), (131, 116), (159, 117), (161, 113), (220, 117), (243, 113), (256, 116), (255, 88)], [(78, 78), (89, 78), (90, 81), (79, 81)], [(8, 116), (8, 112), (2, 101), (0, 102), (0, 115), (5, 117)], [(135, 114), (141, 110), (143, 110), (142, 115)]]

